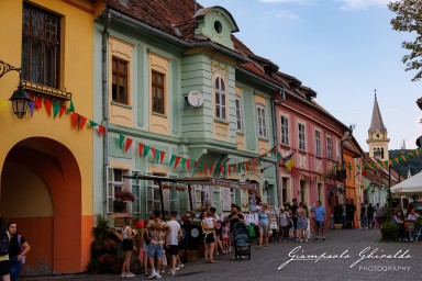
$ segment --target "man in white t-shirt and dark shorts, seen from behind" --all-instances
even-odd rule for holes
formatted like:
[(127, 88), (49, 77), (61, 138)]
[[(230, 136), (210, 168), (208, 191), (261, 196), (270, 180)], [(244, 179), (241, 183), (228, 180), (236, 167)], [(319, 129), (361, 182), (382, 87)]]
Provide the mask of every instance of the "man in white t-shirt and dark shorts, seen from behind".
[(166, 237), (166, 250), (171, 256), (171, 276), (176, 276), (176, 263), (179, 259), (179, 237), (182, 236), (180, 224), (176, 221), (177, 212), (171, 211), (171, 221), (167, 222), (169, 233)]

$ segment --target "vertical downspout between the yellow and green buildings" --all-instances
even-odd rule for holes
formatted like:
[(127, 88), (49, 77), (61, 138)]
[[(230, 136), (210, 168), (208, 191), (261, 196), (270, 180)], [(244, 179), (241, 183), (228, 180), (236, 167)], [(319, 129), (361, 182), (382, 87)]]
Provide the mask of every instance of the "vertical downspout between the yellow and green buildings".
[(101, 74), (102, 74), (102, 125), (104, 126), (104, 136), (102, 137), (102, 187), (103, 187), (103, 216), (107, 215), (107, 172), (109, 167), (109, 86), (107, 71), (107, 45), (109, 36), (109, 25), (111, 21), (110, 8), (107, 8), (107, 19), (104, 29), (102, 30), (102, 55), (101, 55)]

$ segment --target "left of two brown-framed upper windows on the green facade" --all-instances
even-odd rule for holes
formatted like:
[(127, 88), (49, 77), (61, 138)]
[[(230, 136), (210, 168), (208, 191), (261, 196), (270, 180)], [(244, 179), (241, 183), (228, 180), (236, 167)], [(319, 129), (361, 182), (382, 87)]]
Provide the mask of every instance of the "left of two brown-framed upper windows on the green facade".
[(127, 61), (112, 58), (112, 101), (127, 104)]

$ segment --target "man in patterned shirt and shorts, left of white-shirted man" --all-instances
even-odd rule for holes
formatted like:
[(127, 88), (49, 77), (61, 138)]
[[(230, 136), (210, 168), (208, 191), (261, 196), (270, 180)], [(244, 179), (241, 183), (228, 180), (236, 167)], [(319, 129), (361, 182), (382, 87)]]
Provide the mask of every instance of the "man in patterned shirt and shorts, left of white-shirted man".
[[(162, 268), (162, 257), (164, 255), (164, 241), (165, 237), (168, 234), (168, 226), (163, 220), (159, 218), (162, 212), (154, 211), (154, 217), (149, 220), (146, 228), (148, 229), (148, 259), (151, 266), (151, 276), (153, 278), (162, 278), (159, 274), (159, 269)], [(154, 258), (157, 258), (157, 270), (155, 270)]]

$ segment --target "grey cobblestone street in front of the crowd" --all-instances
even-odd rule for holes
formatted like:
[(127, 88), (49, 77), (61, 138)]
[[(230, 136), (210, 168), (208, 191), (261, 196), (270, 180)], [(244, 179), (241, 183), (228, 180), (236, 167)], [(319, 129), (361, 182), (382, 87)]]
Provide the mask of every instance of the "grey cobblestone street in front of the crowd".
[[(234, 261), (233, 252), (216, 257), (218, 263), (203, 263), (199, 259), (185, 265), (176, 277), (163, 273), (163, 279), (176, 280), (421, 280), (422, 244), (380, 243), (379, 231), (343, 229), (330, 231), (326, 240), (273, 241), (268, 249), (252, 246), (252, 259)], [(301, 248), (297, 248), (301, 247)], [(297, 249), (296, 257), (312, 260), (295, 260), (289, 252)], [(368, 248), (366, 251), (365, 249)], [(368, 257), (373, 251), (373, 258)], [(323, 254), (325, 255), (321, 257)], [(397, 254), (399, 252), (399, 254)], [(334, 257), (336, 255), (337, 257)], [(381, 255), (391, 255), (381, 258)], [(396, 257), (393, 257), (396, 255)], [(292, 256), (292, 254), (290, 254)], [(378, 256), (378, 258), (377, 258)], [(319, 261), (316, 259), (320, 258)], [(287, 263), (286, 263), (287, 262)], [(284, 268), (278, 268), (286, 263)], [(356, 263), (353, 266), (353, 263)], [(22, 280), (121, 280), (119, 276), (57, 276), (22, 278)], [(136, 276), (133, 280), (145, 280)]]

